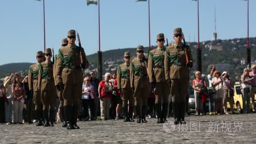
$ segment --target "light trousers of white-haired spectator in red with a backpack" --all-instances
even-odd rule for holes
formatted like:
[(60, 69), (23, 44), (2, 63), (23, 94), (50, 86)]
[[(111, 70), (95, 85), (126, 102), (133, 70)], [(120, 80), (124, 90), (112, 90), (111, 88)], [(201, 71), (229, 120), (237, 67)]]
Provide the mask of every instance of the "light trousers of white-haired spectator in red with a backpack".
[(111, 98), (100, 98), (101, 105), (101, 119), (109, 118), (109, 108), (111, 105)]

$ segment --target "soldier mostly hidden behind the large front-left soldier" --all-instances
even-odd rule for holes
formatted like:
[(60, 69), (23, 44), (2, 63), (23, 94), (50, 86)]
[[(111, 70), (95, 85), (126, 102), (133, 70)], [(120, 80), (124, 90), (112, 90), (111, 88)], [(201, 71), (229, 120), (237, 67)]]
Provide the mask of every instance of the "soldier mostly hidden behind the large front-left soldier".
[[(64, 46), (67, 46), (67, 38), (64, 38), (61, 40), (61, 47), (64, 47)], [(55, 56), (55, 59), (57, 59), (57, 57), (59, 56), (59, 54), (56, 54)], [(55, 61), (55, 64), (54, 64), (54, 81), (55, 81), (55, 85), (58, 85), (58, 83), (56, 82), (56, 61)], [(56, 88), (56, 91), (57, 91), (57, 95), (59, 97), (59, 101), (60, 101), (60, 104), (59, 104), (59, 115), (60, 115), (60, 119), (61, 121), (63, 121), (63, 124), (62, 124), (62, 127), (67, 127), (67, 122), (65, 120), (65, 115), (64, 115), (64, 109), (63, 109), (63, 105), (64, 105), (64, 99), (63, 99), (63, 91), (59, 91), (58, 88)]]

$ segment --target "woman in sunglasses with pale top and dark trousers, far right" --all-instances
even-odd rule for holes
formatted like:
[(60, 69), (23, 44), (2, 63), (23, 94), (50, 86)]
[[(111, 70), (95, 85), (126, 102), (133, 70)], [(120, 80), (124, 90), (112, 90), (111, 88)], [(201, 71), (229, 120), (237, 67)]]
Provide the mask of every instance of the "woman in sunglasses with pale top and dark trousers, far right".
[(245, 68), (243, 70), (243, 75), (241, 75), (242, 82), (242, 99), (243, 99), (243, 113), (250, 113), (250, 91), (251, 91), (251, 80), (253, 78), (249, 75), (249, 69)]

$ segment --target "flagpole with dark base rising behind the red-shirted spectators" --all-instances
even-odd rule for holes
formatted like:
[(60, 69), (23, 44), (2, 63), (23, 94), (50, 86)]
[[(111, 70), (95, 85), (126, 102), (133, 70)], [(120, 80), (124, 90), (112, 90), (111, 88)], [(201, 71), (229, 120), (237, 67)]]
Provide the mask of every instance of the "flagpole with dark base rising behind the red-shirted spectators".
[(102, 52), (101, 52), (101, 32), (100, 32), (100, 6), (98, 0), (98, 21), (99, 21), (99, 51), (98, 51), (98, 78), (102, 79)]

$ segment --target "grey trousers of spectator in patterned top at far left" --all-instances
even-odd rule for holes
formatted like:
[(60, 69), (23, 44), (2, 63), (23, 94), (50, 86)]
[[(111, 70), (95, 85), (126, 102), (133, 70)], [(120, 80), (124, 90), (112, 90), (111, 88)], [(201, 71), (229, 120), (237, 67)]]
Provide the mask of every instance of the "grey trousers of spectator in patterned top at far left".
[(24, 107), (24, 102), (13, 101), (13, 123), (22, 122), (22, 110)]

